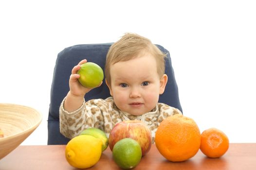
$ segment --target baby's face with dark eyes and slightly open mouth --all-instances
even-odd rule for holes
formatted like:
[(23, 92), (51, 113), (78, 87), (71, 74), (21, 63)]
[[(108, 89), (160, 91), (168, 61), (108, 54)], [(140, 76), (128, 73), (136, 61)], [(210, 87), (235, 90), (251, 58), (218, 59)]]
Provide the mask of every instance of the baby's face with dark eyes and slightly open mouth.
[(164, 92), (167, 82), (166, 75), (166, 79), (159, 77), (156, 60), (147, 53), (111, 65), (110, 75), (110, 94), (116, 106), (131, 115), (151, 111), (158, 102), (159, 94)]

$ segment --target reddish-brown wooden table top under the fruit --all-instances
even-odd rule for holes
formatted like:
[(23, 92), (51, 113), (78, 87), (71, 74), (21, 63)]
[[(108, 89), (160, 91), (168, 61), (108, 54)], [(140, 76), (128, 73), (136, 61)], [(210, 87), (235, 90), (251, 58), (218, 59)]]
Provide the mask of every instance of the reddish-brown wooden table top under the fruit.
[[(65, 159), (65, 145), (19, 146), (0, 160), (0, 170), (75, 170)], [(90, 170), (116, 170), (110, 148)], [(152, 145), (134, 170), (256, 170), (256, 143), (231, 143), (221, 158), (207, 158), (199, 151), (191, 159), (167, 161)]]

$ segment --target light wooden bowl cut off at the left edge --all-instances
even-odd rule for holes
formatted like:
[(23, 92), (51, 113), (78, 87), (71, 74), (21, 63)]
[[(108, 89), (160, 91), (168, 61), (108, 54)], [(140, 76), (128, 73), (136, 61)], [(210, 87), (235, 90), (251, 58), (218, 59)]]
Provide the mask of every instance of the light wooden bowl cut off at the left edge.
[(17, 148), (41, 121), (42, 115), (33, 108), (0, 103), (0, 159)]

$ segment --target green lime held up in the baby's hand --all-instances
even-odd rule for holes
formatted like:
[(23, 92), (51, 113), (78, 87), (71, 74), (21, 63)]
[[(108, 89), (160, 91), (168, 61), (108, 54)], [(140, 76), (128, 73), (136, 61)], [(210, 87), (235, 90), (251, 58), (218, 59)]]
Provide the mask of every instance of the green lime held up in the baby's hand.
[(82, 64), (77, 74), (80, 75), (79, 83), (87, 88), (97, 87), (104, 77), (102, 68), (91, 62)]

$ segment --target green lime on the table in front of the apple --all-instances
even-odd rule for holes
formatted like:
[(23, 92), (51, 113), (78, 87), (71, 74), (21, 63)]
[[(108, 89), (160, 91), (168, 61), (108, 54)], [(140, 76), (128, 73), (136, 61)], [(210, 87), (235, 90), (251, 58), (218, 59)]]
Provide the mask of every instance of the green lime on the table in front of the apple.
[(113, 147), (113, 159), (122, 169), (132, 169), (141, 161), (140, 144), (131, 138), (124, 138), (116, 142)]

